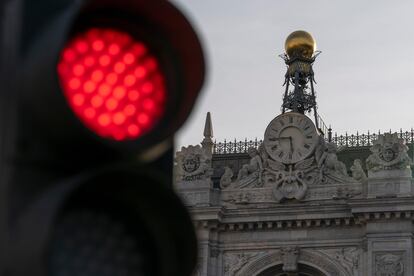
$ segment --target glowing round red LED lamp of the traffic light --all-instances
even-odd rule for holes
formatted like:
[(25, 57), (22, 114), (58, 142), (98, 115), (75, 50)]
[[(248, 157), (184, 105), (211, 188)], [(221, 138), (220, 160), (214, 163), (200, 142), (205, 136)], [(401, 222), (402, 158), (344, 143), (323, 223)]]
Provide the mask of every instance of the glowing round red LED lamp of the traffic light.
[(126, 32), (94, 28), (76, 35), (62, 51), (58, 75), (73, 112), (101, 137), (138, 138), (164, 114), (157, 60)]

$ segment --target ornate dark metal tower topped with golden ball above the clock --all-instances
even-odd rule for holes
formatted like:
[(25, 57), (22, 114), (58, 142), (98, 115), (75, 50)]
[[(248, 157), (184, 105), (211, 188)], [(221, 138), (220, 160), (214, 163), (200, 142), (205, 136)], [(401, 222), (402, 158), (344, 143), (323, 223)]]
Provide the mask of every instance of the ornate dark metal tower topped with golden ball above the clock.
[[(287, 110), (304, 114), (312, 109), (316, 127), (319, 128), (315, 83), (312, 64), (320, 51), (315, 51), (316, 43), (312, 36), (305, 31), (296, 31), (288, 36), (285, 42), (286, 53), (280, 55), (287, 65), (284, 86), (282, 113)], [(289, 91), (290, 85), (293, 90)], [(310, 88), (310, 90), (309, 90)]]

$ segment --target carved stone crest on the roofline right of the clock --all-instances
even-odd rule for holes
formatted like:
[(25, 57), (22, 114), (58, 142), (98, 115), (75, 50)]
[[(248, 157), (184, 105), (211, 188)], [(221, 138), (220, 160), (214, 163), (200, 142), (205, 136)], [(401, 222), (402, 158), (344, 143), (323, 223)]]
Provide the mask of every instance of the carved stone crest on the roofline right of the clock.
[(397, 133), (378, 135), (370, 148), (372, 154), (366, 164), (368, 171), (377, 172), (383, 170), (407, 170), (410, 168), (411, 159), (408, 157), (408, 147), (404, 139), (398, 138)]

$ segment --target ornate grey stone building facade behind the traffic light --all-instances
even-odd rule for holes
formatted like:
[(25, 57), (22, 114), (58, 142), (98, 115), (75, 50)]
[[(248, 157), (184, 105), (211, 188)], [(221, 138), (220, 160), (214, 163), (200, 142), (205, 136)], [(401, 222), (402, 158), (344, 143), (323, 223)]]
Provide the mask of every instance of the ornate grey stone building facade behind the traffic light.
[(291, 164), (266, 144), (286, 137), (268, 131), (263, 143), (213, 143), (208, 115), (204, 136), (175, 163), (199, 237), (194, 275), (414, 275), (412, 131), (318, 135)]

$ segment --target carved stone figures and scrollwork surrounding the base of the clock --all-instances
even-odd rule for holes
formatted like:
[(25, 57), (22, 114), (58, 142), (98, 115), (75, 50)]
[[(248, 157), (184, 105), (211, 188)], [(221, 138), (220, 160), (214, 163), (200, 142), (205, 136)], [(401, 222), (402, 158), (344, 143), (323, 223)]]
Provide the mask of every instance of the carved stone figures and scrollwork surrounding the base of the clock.
[[(356, 181), (347, 175), (344, 163), (338, 160), (336, 146), (325, 142), (323, 137), (318, 138), (315, 151), (309, 158), (293, 164), (285, 164), (271, 158), (262, 146), (259, 150), (249, 148), (249, 155), (251, 160), (240, 169), (236, 181), (231, 182), (233, 172), (230, 168), (225, 168), (220, 180), (223, 190), (271, 188), (274, 201), (279, 203), (283, 199), (305, 199), (310, 186)], [(361, 174), (361, 170), (358, 171), (358, 164), (358, 161), (354, 164), (355, 175)], [(360, 176), (360, 180), (361, 177), (363, 175)], [(327, 198), (347, 199), (357, 194), (360, 194), (360, 191), (339, 188)], [(254, 202), (250, 198), (251, 196), (246, 192), (225, 197), (224, 201), (236, 204)]]

